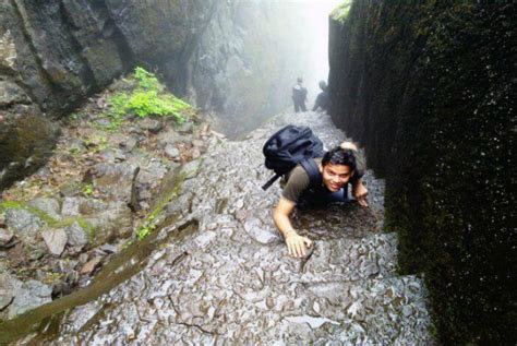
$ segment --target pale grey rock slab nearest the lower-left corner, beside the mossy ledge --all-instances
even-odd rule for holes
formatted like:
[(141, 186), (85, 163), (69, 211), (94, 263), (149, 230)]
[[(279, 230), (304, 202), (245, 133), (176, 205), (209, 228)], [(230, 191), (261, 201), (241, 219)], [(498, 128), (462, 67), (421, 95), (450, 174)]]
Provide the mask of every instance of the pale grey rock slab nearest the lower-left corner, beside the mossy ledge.
[(23, 283), (16, 291), (13, 302), (9, 306), (10, 319), (35, 309), (44, 303), (50, 302), (52, 288), (37, 281)]

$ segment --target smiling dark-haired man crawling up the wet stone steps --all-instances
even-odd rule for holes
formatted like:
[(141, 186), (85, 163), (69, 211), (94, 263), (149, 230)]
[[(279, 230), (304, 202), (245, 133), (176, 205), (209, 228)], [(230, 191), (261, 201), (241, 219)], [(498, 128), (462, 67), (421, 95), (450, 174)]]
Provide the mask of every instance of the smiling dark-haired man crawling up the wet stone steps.
[(368, 189), (362, 183), (363, 163), (357, 155), (357, 146), (344, 142), (327, 152), (323, 158), (315, 158), (313, 170), (318, 175), (316, 183), (313, 172), (297, 165), (284, 179), (284, 191), (273, 212), (273, 219), (286, 240), (289, 254), (304, 256), (312, 246), (311, 239), (299, 236), (292, 227), (290, 214), (294, 206), (317, 205), (332, 202), (348, 202), (348, 183), (352, 184), (356, 201), (368, 206)]

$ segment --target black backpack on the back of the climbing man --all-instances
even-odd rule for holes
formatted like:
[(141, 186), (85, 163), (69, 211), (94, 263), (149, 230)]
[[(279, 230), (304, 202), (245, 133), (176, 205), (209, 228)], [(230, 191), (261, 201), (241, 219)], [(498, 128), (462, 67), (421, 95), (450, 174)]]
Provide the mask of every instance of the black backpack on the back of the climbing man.
[(308, 127), (289, 124), (282, 128), (267, 140), (262, 152), (266, 157), (266, 168), (275, 171), (275, 176), (262, 187), (263, 190), (268, 189), (297, 164), (305, 169), (311, 184), (321, 180), (320, 169), (312, 158), (323, 156), (323, 143)]

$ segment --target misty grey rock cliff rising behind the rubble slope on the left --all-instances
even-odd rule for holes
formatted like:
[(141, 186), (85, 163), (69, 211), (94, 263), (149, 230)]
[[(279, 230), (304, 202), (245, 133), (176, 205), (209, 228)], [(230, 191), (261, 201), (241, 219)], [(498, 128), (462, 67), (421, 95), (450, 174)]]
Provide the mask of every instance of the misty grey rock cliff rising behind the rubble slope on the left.
[[(278, 112), (290, 102), (292, 80), (309, 65), (305, 47), (290, 41), (293, 33), (302, 35), (299, 11), (265, 0), (3, 1), (0, 189), (45, 159), (56, 136), (49, 119), (136, 64), (218, 114), (229, 135), (237, 135), (236, 121), (247, 130)], [(36, 128), (46, 130), (29, 144), (15, 134)], [(21, 145), (31, 150), (16, 152)]]

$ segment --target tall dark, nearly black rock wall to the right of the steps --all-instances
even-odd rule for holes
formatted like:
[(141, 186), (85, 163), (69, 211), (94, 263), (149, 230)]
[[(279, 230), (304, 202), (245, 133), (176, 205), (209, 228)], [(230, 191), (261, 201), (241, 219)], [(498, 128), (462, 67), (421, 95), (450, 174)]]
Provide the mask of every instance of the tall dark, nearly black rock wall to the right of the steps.
[(445, 344), (515, 342), (516, 13), (364, 0), (330, 20), (332, 116), (386, 178), (401, 267), (425, 273)]

